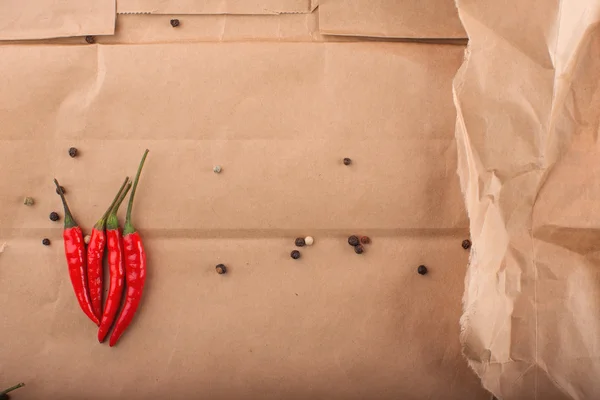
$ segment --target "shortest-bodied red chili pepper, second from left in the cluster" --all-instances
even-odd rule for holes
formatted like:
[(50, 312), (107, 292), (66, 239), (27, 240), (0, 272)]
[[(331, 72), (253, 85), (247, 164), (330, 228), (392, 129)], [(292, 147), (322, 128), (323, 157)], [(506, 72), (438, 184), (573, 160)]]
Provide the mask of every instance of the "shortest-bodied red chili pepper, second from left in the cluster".
[(102, 280), (104, 278), (104, 272), (102, 268), (102, 259), (104, 256), (104, 246), (106, 245), (106, 235), (104, 229), (106, 228), (106, 219), (108, 214), (119, 200), (121, 192), (127, 185), (129, 178), (125, 178), (125, 182), (121, 185), (119, 193), (113, 199), (110, 207), (104, 213), (102, 218), (96, 222), (92, 229), (90, 237), (90, 243), (87, 248), (87, 261), (88, 261), (88, 285), (90, 288), (90, 300), (92, 301), (92, 310), (98, 320), (102, 318)]

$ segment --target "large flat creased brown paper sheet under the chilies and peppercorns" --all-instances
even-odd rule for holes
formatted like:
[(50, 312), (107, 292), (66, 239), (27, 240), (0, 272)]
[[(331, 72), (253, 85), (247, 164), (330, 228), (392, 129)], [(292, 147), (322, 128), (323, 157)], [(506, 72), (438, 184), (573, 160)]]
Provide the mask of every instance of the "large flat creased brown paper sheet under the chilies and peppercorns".
[[(119, 15), (92, 45), (0, 44), (0, 383), (26, 382), (15, 398), (490, 398), (459, 342), (464, 46), (330, 39), (316, 13), (178, 30)], [(145, 148), (148, 280), (109, 348), (72, 293), (52, 178), (89, 232)], [(361, 256), (353, 233), (372, 238)]]

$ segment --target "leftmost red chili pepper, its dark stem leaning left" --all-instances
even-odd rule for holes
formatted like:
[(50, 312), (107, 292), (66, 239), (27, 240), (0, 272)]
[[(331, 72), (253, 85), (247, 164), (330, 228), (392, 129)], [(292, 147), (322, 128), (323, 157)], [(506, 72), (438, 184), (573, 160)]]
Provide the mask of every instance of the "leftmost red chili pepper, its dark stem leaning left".
[(88, 292), (87, 276), (85, 271), (85, 244), (83, 243), (83, 233), (81, 228), (77, 225), (77, 222), (71, 215), (71, 210), (65, 200), (65, 194), (63, 193), (61, 186), (58, 181), (54, 179), (54, 184), (60, 194), (60, 199), (65, 209), (65, 228), (63, 231), (63, 239), (65, 242), (65, 255), (67, 256), (67, 265), (69, 267), (69, 277), (71, 278), (71, 284), (75, 290), (75, 296), (79, 306), (96, 325), (98, 325), (98, 318), (94, 315), (92, 309), (92, 303), (90, 301), (90, 294)]

